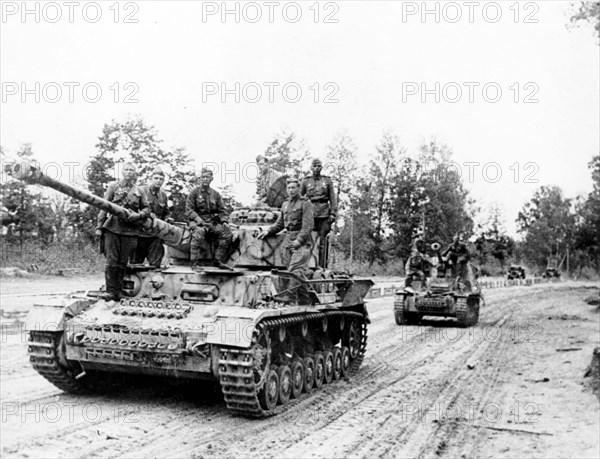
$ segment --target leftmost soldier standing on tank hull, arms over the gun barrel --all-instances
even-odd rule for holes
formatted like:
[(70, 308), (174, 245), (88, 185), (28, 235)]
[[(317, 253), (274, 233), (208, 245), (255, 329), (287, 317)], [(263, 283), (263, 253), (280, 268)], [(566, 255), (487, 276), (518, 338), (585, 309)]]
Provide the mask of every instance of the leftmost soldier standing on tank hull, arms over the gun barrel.
[(121, 298), (123, 278), (127, 261), (137, 245), (139, 222), (150, 215), (150, 206), (140, 187), (135, 183), (136, 171), (132, 163), (123, 165), (123, 178), (108, 184), (104, 199), (131, 210), (127, 220), (115, 215), (107, 215), (103, 210), (98, 214), (96, 235), (103, 239), (106, 267), (106, 300), (118, 301)]

